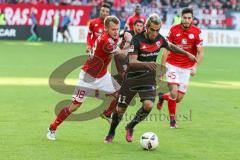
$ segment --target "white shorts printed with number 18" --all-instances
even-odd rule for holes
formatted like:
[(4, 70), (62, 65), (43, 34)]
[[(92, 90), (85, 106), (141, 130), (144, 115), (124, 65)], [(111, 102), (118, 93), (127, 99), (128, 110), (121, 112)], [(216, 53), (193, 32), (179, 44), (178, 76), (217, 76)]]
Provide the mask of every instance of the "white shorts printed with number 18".
[(112, 94), (120, 89), (120, 85), (114, 80), (109, 72), (101, 78), (94, 78), (81, 70), (79, 80), (72, 96), (72, 101), (82, 103), (87, 96), (96, 90), (106, 94)]

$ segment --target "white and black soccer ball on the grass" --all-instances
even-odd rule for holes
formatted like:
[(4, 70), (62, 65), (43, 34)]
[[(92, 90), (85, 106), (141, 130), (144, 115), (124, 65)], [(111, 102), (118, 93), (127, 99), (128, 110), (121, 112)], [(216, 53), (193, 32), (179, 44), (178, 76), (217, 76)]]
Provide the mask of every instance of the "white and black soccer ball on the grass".
[(153, 132), (146, 132), (140, 137), (140, 145), (145, 150), (154, 150), (158, 144), (158, 137)]

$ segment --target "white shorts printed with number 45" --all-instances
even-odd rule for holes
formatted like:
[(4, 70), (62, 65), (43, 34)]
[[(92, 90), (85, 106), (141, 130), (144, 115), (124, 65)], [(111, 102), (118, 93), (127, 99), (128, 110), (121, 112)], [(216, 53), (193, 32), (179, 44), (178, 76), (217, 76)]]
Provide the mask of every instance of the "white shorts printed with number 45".
[(176, 67), (169, 63), (166, 63), (166, 67), (166, 78), (168, 84), (177, 84), (179, 86), (178, 91), (186, 93), (190, 79), (191, 69)]

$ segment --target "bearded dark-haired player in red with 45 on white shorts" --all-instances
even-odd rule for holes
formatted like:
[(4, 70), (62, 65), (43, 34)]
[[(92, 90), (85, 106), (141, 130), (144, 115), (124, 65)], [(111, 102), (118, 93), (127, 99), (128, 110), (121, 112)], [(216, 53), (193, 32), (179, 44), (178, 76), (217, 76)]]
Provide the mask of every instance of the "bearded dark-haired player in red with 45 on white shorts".
[(176, 103), (183, 99), (187, 91), (190, 75), (194, 76), (196, 74), (197, 66), (203, 60), (201, 30), (192, 25), (192, 23), (192, 9), (183, 9), (181, 24), (175, 25), (170, 29), (167, 39), (196, 56), (197, 63), (191, 61), (183, 54), (174, 54), (172, 51), (164, 50), (162, 56), (162, 65), (167, 67), (166, 78), (170, 93), (159, 93), (157, 106), (158, 109), (161, 109), (163, 101), (168, 101), (171, 128), (176, 128)]

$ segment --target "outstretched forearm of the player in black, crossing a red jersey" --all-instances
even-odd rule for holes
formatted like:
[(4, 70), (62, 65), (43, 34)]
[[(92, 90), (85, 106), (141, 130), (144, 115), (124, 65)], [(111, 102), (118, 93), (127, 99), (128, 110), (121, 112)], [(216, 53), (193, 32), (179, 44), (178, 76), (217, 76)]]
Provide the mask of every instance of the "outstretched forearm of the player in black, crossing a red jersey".
[(177, 45), (172, 44), (171, 42), (168, 42), (168, 45), (165, 48), (169, 51), (172, 51), (175, 54), (184, 54), (184, 55), (188, 56), (189, 59), (191, 59), (193, 61), (197, 61), (196, 57), (194, 55), (183, 50), (182, 48), (178, 47)]

